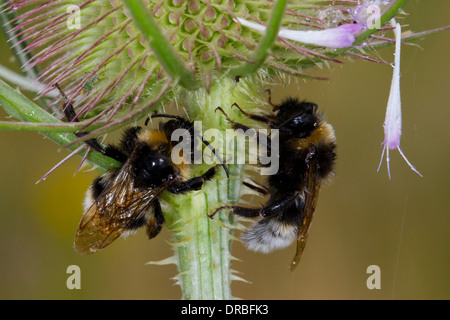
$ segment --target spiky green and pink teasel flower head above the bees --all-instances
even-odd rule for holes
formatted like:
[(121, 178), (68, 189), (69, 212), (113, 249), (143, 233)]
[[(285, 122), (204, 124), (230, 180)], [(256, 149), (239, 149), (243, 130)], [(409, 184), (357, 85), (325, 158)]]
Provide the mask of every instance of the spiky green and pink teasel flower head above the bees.
[[(305, 66), (339, 62), (327, 55), (333, 51), (326, 43), (315, 47), (282, 35), (264, 39), (239, 19), (271, 30), (316, 32), (330, 43), (339, 37), (354, 40), (366, 19), (360, 7), (345, 1), (334, 6), (286, 2), (17, 0), (3, 7), (20, 12), (13, 21), (20, 37), (16, 45), (26, 43), (23, 50), (32, 53), (24, 69), (41, 68), (36, 79), (45, 84), (41, 95), (58, 83), (73, 101), (77, 119), (114, 127), (143, 117), (162, 91), (165, 100), (175, 98), (180, 87), (209, 91), (217, 79), (248, 76), (261, 65), (259, 74), (314, 78)], [(358, 22), (352, 25), (355, 15)]]

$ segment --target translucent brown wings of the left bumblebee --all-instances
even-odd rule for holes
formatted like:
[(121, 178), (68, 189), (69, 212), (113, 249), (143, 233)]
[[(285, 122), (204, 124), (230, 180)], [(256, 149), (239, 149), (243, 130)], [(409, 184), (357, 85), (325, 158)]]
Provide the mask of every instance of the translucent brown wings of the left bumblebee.
[(146, 218), (152, 200), (165, 187), (136, 188), (126, 162), (81, 219), (75, 235), (75, 250), (90, 254), (105, 248)]

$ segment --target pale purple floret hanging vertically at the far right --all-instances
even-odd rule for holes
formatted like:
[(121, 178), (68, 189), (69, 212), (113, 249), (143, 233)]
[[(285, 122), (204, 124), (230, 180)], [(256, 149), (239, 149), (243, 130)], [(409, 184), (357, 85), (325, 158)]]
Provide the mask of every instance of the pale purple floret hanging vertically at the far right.
[(384, 120), (384, 141), (381, 144), (383, 146), (383, 152), (381, 154), (380, 164), (378, 170), (380, 170), (381, 162), (383, 161), (384, 153), (386, 151), (386, 163), (388, 168), (389, 179), (391, 178), (391, 171), (389, 167), (389, 150), (397, 149), (410, 168), (416, 172), (419, 176), (422, 176), (419, 171), (408, 161), (402, 149), (400, 148), (400, 138), (402, 135), (402, 109), (400, 99), (400, 44), (401, 44), (401, 27), (397, 23), (395, 29), (395, 64), (394, 74), (392, 76), (391, 91), (389, 93), (388, 105), (386, 108), (386, 118)]

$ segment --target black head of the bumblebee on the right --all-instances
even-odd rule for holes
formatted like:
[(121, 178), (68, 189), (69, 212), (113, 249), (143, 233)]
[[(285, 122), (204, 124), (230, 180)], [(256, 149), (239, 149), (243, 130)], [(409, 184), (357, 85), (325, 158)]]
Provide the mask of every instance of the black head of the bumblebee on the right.
[(277, 107), (277, 129), (288, 132), (298, 138), (305, 138), (312, 134), (319, 124), (317, 105), (297, 98), (287, 98)]

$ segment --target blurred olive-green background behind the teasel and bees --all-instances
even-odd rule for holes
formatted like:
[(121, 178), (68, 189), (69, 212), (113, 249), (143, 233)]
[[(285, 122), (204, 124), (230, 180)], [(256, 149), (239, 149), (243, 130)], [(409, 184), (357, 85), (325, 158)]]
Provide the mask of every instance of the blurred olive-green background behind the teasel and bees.
[[(410, 0), (403, 24), (414, 31), (449, 24), (450, 2)], [(391, 152), (377, 173), (392, 67), (345, 60), (314, 73), (331, 81), (292, 81), (273, 100), (300, 95), (317, 102), (338, 139), (336, 177), (321, 190), (306, 251), (288, 271), (294, 246), (264, 255), (233, 245), (234, 282), (243, 299), (450, 298), (450, 31), (402, 47), (401, 146), (422, 173)], [(19, 71), (3, 35), (1, 64)], [(375, 58), (393, 61), (393, 48)], [(6, 120), (3, 110), (0, 119)], [(74, 176), (80, 159), (35, 182), (68, 152), (35, 132), (0, 132), (1, 299), (178, 299), (176, 268), (145, 265), (172, 255), (166, 230), (119, 239), (92, 256), (72, 249), (82, 200), (95, 171)], [(69, 290), (67, 267), (81, 268), (81, 290)], [(370, 265), (381, 269), (381, 289), (366, 286)]]

